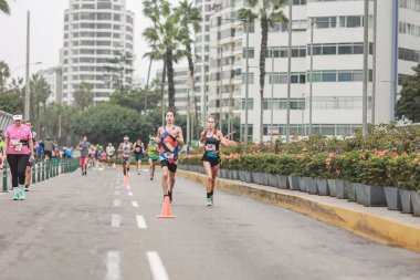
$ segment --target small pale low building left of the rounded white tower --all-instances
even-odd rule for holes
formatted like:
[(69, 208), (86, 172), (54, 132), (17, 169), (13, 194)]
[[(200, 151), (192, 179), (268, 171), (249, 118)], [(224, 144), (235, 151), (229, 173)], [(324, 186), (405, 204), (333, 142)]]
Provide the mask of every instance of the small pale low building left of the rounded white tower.
[(50, 85), (51, 94), (46, 103), (62, 104), (63, 102), (63, 68), (55, 66), (46, 70), (41, 70), (39, 73), (45, 79)]

